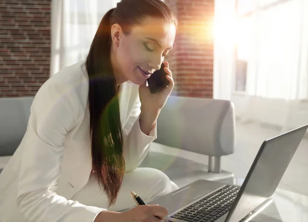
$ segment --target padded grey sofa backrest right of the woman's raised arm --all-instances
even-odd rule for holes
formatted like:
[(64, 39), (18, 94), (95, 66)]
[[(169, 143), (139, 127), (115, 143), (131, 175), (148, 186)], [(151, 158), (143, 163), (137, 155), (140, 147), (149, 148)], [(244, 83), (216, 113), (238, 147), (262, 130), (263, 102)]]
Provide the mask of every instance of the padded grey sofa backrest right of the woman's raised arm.
[(235, 149), (234, 104), (170, 96), (157, 120), (157, 143), (214, 157)]

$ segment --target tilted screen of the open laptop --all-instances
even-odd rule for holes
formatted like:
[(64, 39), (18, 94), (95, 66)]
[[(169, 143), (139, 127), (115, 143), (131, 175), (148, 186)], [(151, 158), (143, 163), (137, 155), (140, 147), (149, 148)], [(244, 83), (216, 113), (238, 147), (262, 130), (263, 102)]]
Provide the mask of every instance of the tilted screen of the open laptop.
[(225, 221), (240, 221), (273, 195), (307, 127), (302, 126), (262, 143)]

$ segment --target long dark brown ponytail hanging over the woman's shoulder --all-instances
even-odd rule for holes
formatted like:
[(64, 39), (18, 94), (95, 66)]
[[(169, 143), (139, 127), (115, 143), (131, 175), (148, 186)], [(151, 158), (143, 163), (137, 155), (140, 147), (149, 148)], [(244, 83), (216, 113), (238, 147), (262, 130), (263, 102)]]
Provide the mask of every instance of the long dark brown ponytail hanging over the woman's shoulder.
[(104, 15), (86, 59), (92, 169), (107, 194), (109, 207), (117, 199), (125, 170), (117, 83), (110, 59), (113, 10)]

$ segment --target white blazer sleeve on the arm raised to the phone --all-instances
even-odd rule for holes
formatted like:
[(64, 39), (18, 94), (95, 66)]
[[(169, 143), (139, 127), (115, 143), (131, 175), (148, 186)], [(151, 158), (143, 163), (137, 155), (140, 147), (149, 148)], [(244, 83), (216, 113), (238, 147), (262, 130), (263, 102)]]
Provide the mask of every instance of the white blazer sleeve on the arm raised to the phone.
[(139, 98), (134, 105), (126, 125), (123, 128), (124, 144), (123, 154), (125, 158), (125, 172), (138, 168), (147, 153), (149, 144), (157, 138), (157, 123), (154, 124), (149, 135), (145, 135), (139, 124), (141, 102)]

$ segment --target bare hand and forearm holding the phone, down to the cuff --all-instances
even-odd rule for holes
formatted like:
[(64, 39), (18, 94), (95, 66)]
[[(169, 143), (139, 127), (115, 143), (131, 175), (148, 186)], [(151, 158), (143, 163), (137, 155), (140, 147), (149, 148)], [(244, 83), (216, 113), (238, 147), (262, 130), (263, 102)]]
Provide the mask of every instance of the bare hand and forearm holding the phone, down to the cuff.
[(167, 87), (163, 88), (157, 93), (151, 94), (150, 90), (146, 86), (146, 82), (139, 86), (139, 98), (141, 102), (141, 114), (139, 123), (141, 131), (146, 135), (149, 135), (151, 132), (161, 109), (166, 104), (175, 85), (168, 62), (165, 61), (164, 65), (164, 70), (167, 73), (166, 78), (170, 82)]

